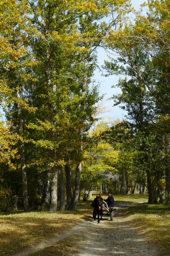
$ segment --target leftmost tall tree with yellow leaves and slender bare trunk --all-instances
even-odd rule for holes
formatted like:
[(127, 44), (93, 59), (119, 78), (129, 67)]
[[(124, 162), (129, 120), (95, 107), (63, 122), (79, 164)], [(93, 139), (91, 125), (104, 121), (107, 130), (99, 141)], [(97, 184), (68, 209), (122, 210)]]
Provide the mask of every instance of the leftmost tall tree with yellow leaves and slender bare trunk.
[[(23, 127), (21, 109), (33, 111), (27, 104), (27, 99), (20, 96), (20, 91), (24, 81), (27, 80), (26, 67), (34, 65), (26, 60), (27, 45), (29, 43), (26, 15), (28, 13), (27, 1), (4, 1), (1, 3), (1, 88), (2, 88), (2, 103), (6, 116), (8, 115), (7, 107), (12, 104), (17, 104), (18, 112), (18, 131), (19, 134), (19, 153), (22, 169), (23, 183), (23, 204), (24, 211), (28, 211), (28, 196), (27, 196), (27, 171), (24, 153)], [(9, 116), (7, 116), (7, 119)], [(12, 126), (11, 126), (12, 127)], [(16, 131), (15, 131), (16, 132)]]

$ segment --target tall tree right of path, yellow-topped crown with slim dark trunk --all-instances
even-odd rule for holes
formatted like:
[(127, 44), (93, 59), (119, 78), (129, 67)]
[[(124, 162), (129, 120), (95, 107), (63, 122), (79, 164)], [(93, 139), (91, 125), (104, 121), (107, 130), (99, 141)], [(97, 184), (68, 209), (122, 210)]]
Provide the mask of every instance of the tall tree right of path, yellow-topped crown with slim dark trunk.
[[(141, 126), (141, 128), (138, 126), (138, 135), (140, 133), (139, 137), (140, 139), (143, 138), (144, 142), (141, 142), (141, 150), (145, 156), (144, 162), (149, 163), (153, 150), (149, 144), (151, 143), (153, 147), (157, 148), (158, 142), (155, 134), (151, 132), (155, 127), (154, 119), (158, 118), (159, 123), (162, 116), (169, 114), (169, 28), (167, 26), (169, 3), (167, 1), (148, 1), (148, 4), (143, 4), (143, 6), (148, 6), (149, 8), (146, 17), (140, 12), (135, 12), (135, 23), (125, 20), (124, 26), (120, 23), (120, 26), (116, 29), (111, 29), (110, 34), (105, 38), (108, 48), (119, 54), (117, 60), (112, 60), (110, 63), (106, 62), (106, 69), (109, 70), (110, 74), (121, 73), (132, 77), (132, 79), (125, 79), (120, 82), (123, 84), (122, 87), (125, 88), (126, 95), (122, 93), (117, 98), (119, 102), (126, 102), (127, 106), (124, 108), (128, 110), (128, 117), (130, 116), (132, 120), (135, 119), (136, 128), (137, 122)], [(122, 66), (121, 63), (126, 66)], [(138, 90), (136, 100), (139, 102), (139, 108), (136, 105), (136, 96), (134, 95), (136, 90)], [(159, 117), (156, 117), (157, 115)], [(163, 136), (167, 136), (168, 130), (164, 129), (163, 134)], [(157, 138), (159, 138), (161, 147), (163, 141), (160, 137), (162, 136)], [(157, 142), (154, 143), (154, 140)], [(149, 202), (152, 203), (151, 171), (147, 165), (146, 172)], [(169, 184), (168, 173), (169, 171), (167, 171), (166, 175), (167, 184)]]

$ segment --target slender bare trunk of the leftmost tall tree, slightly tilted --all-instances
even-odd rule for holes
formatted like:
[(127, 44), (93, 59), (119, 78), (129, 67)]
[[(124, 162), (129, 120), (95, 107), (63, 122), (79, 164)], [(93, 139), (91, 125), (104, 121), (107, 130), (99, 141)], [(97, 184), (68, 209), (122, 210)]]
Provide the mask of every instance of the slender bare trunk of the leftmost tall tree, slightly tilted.
[[(17, 91), (17, 99), (20, 98), (20, 93)], [(21, 106), (17, 104), (17, 111), (18, 111), (18, 127), (19, 127), (19, 135), (22, 136), (23, 133), (23, 126), (22, 126), (22, 112)], [(23, 205), (24, 205), (24, 212), (28, 212), (29, 204), (28, 204), (28, 188), (27, 188), (27, 168), (26, 168), (26, 161), (25, 161), (25, 148), (24, 143), (20, 141), (20, 160), (21, 160), (21, 169), (22, 169), (22, 197), (23, 197)]]

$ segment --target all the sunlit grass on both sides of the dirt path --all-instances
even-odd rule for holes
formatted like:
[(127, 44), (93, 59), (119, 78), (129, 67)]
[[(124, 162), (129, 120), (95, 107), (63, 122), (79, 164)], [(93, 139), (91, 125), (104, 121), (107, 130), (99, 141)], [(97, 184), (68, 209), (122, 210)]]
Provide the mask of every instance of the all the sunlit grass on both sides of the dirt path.
[[(93, 194), (93, 198), (97, 194)], [(103, 195), (107, 198), (107, 195)], [(169, 217), (170, 212), (167, 205), (148, 205), (148, 195), (114, 195), (115, 202), (138, 203), (126, 209), (126, 215), (134, 225), (140, 226), (151, 241), (163, 247), (170, 253), (169, 243)], [(91, 200), (90, 200), (91, 201)], [(62, 234), (71, 229), (76, 224), (86, 220), (92, 215), (90, 201), (79, 201), (77, 210), (74, 212), (19, 212), (11, 214), (0, 213), (0, 255), (14, 255), (26, 247), (37, 244), (48, 239), (54, 234)], [(161, 217), (159, 217), (161, 216)], [(72, 238), (72, 240), (79, 238)], [(72, 241), (70, 240), (70, 241)], [(65, 247), (63, 247), (63, 244)], [(45, 255), (73, 255), (76, 248), (72, 247), (72, 242), (60, 241), (60, 243), (50, 247), (50, 252), (44, 249), (41, 256)], [(64, 249), (63, 249), (64, 248)], [(69, 254), (71, 253), (71, 254)], [(32, 256), (39, 254), (33, 253)]]

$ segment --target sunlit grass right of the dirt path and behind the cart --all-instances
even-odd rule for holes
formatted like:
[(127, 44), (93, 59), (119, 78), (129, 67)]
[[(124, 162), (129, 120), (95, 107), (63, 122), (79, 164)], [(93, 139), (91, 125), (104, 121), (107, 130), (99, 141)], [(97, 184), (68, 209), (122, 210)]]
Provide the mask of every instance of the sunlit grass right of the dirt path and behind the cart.
[[(98, 195), (95, 193), (93, 197)], [(107, 198), (107, 194), (103, 194)], [(165, 248), (170, 254), (170, 205), (147, 204), (148, 194), (113, 195), (116, 203), (135, 203), (126, 209), (126, 213), (135, 226), (141, 227), (152, 242)], [(138, 204), (136, 204), (138, 203)]]

